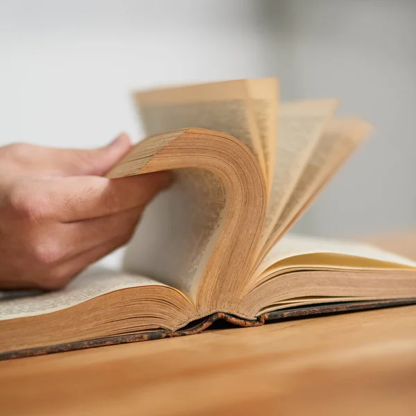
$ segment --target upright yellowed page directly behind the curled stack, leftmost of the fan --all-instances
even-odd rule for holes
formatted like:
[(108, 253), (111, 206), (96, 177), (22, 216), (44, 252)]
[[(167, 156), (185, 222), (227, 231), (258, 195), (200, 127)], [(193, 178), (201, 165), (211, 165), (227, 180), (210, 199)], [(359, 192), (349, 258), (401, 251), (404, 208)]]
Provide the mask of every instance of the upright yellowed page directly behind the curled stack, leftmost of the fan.
[(227, 133), (248, 146), (266, 177), (247, 80), (137, 92), (135, 103), (149, 135), (180, 128)]

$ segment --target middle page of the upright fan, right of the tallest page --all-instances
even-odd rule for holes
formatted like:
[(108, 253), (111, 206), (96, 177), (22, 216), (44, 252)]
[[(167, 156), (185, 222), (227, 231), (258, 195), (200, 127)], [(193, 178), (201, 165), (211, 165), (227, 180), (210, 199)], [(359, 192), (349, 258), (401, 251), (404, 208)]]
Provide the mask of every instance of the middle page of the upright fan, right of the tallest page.
[(282, 103), (279, 141), (272, 176), (272, 191), (261, 241), (265, 243), (311, 157), (325, 125), (336, 110), (336, 100)]

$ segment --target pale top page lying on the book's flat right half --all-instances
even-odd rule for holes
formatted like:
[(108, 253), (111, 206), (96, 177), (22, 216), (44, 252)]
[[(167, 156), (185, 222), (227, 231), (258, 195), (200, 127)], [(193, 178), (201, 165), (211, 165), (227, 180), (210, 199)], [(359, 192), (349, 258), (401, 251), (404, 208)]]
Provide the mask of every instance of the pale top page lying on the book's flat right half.
[[(399, 254), (386, 252), (379, 248), (365, 243), (355, 241), (340, 241), (336, 239), (325, 239), (312, 236), (303, 236), (299, 234), (286, 234), (277, 243), (261, 262), (257, 269), (257, 274), (264, 272), (266, 269), (276, 265), (279, 261), (297, 257), (306, 254), (341, 254), (345, 256), (361, 257), (379, 261), (379, 267), (387, 267), (387, 263), (395, 263), (400, 266), (416, 268), (416, 261), (406, 259)], [(293, 266), (296, 266), (295, 259)], [(324, 266), (324, 264), (323, 264)]]

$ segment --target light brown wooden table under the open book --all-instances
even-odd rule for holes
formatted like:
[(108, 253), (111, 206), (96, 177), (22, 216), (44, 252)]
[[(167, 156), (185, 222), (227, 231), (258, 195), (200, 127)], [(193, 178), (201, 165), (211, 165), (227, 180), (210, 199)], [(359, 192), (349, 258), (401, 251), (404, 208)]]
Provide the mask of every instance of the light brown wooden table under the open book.
[(416, 415), (416, 306), (0, 362), (0, 415), (220, 414)]

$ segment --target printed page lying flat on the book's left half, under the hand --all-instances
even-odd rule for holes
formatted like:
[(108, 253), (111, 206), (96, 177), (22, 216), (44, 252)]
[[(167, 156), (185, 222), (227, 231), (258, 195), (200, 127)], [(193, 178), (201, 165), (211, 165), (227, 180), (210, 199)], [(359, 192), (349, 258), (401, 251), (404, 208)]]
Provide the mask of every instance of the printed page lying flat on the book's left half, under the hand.
[(166, 286), (148, 277), (91, 266), (59, 291), (0, 292), (0, 320), (60, 311), (106, 293), (154, 285)]

